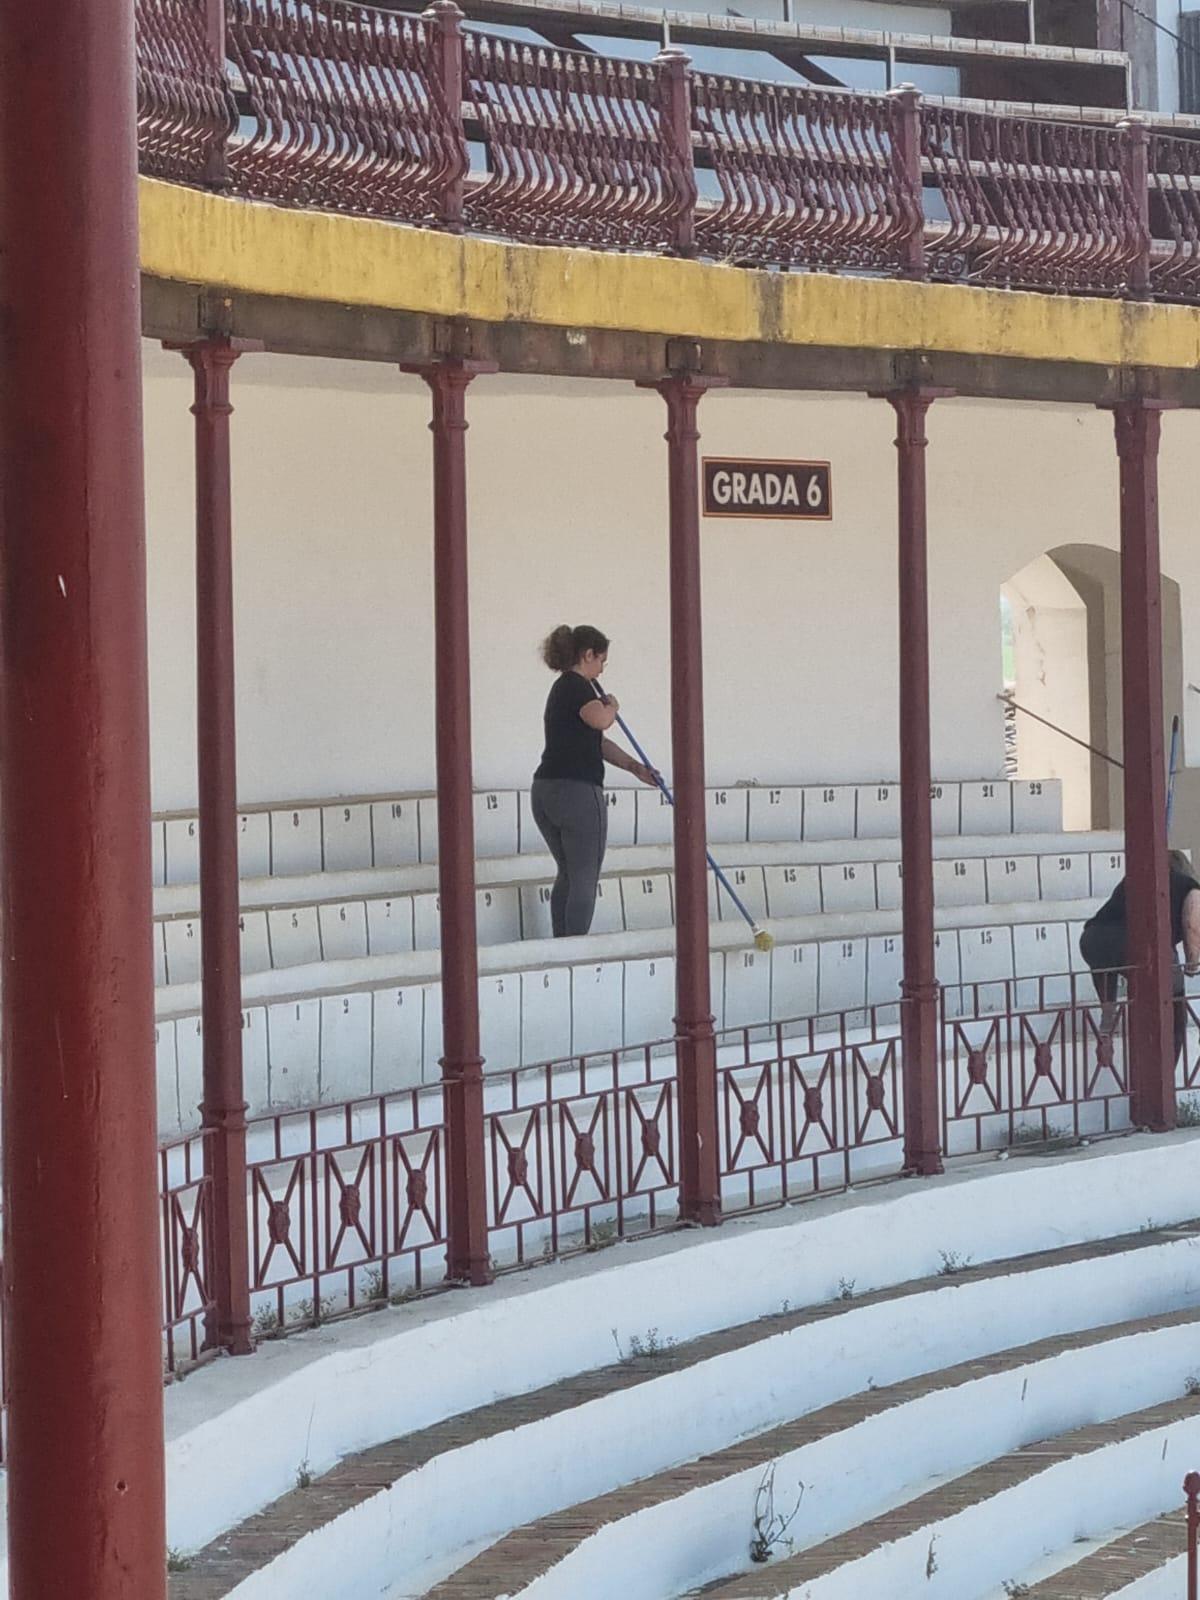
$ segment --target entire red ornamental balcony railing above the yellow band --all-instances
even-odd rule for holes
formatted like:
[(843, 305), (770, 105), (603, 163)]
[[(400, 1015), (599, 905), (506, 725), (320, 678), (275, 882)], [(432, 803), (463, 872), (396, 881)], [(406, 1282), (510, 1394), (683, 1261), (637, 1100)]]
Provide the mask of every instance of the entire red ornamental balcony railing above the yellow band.
[(144, 171), (533, 243), (1200, 296), (1200, 142), (621, 61), (349, 0), (138, 0)]

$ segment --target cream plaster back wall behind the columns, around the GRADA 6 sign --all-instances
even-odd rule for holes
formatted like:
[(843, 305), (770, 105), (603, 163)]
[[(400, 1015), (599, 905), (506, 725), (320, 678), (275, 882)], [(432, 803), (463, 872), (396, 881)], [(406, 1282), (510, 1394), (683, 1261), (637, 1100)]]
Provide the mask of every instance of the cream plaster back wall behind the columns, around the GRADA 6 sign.
[[(190, 382), (179, 357), (154, 347), (146, 373), (154, 803), (165, 810), (195, 802)], [(424, 389), (365, 363), (246, 357), (234, 398), (242, 798), (430, 787)], [(558, 621), (611, 634), (608, 682), (669, 766), (662, 403), (624, 384), (496, 378), (472, 389), (469, 416), (478, 786), (528, 782), (549, 688), (536, 645)], [(717, 394), (701, 421), (712, 453), (834, 466), (830, 523), (702, 525), (709, 779), (894, 778), (891, 411), (856, 397)], [(1168, 416), (1163, 434), (1163, 563), (1182, 586), (1184, 670), (1200, 680), (1200, 419)], [(1112, 424), (1064, 406), (939, 402), (928, 467), (934, 768), (994, 778), (1000, 586), (1066, 541), (1115, 544)]]

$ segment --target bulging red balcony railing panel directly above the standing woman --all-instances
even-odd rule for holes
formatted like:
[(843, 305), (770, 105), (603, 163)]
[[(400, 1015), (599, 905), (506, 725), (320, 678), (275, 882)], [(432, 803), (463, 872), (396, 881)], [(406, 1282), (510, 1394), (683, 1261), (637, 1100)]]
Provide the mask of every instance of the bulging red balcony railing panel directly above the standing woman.
[(664, 130), (669, 86), (656, 62), (469, 32), (464, 78), (486, 154), (466, 197), (472, 229), (621, 250), (675, 243), (694, 186)]

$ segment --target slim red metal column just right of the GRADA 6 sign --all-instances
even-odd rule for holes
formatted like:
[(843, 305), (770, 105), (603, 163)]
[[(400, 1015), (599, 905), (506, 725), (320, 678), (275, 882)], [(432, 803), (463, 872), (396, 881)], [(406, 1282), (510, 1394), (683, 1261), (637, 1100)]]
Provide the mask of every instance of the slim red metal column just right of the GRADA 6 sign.
[(930, 808), (930, 586), (925, 515), (925, 418), (934, 390), (888, 395), (896, 411), (899, 491), (899, 746), (904, 979), (904, 1170), (942, 1170), (939, 1141), (938, 971), (933, 930)]

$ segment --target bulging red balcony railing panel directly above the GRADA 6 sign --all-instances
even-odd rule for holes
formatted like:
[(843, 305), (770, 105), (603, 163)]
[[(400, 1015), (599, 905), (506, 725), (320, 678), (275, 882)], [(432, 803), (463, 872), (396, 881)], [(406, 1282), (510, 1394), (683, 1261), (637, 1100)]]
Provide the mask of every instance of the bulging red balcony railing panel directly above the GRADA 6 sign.
[(894, 96), (694, 74), (693, 128), (720, 190), (698, 216), (699, 248), (752, 266), (899, 270), (923, 227), (902, 115)]

